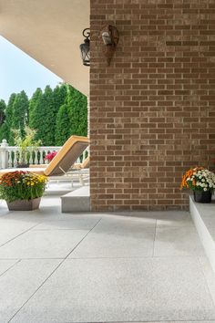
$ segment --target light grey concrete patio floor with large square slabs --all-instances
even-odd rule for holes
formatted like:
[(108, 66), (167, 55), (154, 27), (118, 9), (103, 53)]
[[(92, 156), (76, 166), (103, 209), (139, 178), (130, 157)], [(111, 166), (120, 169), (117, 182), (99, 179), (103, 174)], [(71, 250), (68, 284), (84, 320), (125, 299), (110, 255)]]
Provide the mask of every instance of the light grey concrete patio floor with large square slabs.
[(186, 212), (61, 214), (0, 202), (0, 323), (215, 322), (215, 276)]

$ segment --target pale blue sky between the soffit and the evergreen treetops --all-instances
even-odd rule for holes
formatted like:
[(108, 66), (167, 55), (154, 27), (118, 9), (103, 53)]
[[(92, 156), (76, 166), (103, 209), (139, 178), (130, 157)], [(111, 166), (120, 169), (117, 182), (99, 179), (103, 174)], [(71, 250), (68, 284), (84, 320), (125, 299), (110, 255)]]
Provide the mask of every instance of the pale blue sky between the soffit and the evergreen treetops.
[(56, 74), (0, 36), (0, 99), (25, 90), (29, 98), (37, 88), (55, 88), (62, 82)]

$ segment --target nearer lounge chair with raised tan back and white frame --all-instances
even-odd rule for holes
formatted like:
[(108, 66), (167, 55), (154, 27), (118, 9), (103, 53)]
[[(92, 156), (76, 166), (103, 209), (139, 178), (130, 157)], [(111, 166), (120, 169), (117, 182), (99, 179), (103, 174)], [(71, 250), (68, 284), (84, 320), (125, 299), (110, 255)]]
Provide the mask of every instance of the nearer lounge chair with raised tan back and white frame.
[[(74, 173), (68, 171), (72, 165), (75, 164), (83, 151), (87, 149), (88, 144), (89, 140), (87, 137), (71, 136), (65, 142), (61, 150), (57, 152), (55, 158), (46, 167), (1, 170), (0, 177), (6, 172), (27, 171), (46, 175), (50, 180), (72, 180), (72, 178), (74, 178)], [(80, 179), (80, 173), (77, 175), (80, 182), (83, 183), (82, 179)]]

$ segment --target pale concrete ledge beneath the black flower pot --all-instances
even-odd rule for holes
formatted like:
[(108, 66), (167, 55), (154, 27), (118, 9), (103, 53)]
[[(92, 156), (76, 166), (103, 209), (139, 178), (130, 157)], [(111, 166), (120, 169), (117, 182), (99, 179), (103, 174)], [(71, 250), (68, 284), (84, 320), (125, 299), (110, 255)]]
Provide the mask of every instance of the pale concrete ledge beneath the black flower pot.
[(193, 197), (189, 196), (189, 211), (215, 272), (215, 200), (211, 203), (196, 203)]

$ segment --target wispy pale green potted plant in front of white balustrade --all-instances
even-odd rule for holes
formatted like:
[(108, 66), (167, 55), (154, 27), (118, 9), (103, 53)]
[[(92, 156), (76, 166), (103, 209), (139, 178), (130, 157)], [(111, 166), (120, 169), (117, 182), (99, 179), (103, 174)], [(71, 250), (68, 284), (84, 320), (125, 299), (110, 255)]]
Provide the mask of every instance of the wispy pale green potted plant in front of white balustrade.
[[(41, 141), (35, 141), (36, 130), (25, 127), (25, 136), (23, 137), (20, 130), (13, 130), (15, 135), (15, 145), (19, 148), (19, 160), (17, 168), (28, 167), (30, 153), (36, 151), (36, 148), (41, 144)], [(31, 151), (29, 151), (29, 148)]]

